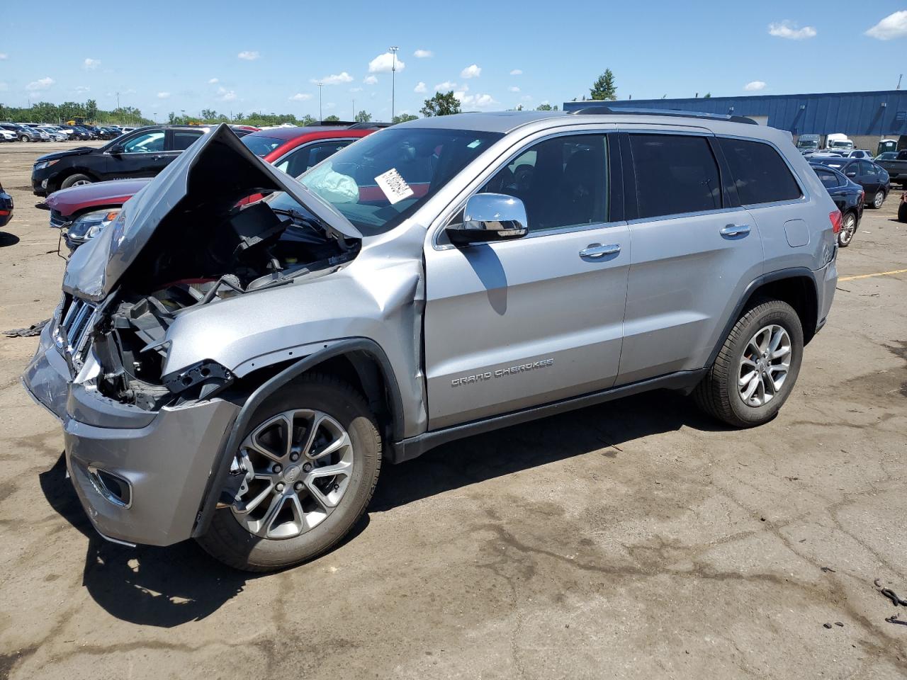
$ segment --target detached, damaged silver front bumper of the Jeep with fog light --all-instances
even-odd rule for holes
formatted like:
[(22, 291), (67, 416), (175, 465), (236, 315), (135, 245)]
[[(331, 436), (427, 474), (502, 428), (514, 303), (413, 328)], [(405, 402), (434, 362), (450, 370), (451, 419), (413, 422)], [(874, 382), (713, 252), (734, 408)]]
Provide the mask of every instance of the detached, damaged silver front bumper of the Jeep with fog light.
[(109, 399), (73, 381), (52, 326), (23, 383), (63, 423), (66, 467), (95, 529), (156, 546), (190, 538), (239, 407), (214, 398), (146, 411)]

